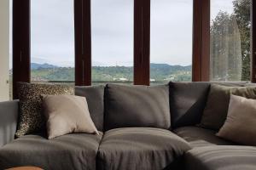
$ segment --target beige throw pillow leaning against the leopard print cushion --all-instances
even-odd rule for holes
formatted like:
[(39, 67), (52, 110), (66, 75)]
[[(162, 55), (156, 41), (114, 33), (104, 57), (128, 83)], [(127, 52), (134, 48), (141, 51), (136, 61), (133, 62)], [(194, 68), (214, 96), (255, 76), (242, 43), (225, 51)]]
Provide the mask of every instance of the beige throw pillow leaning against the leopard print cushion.
[(74, 95), (42, 95), (48, 139), (67, 133), (99, 134), (90, 118), (87, 101)]

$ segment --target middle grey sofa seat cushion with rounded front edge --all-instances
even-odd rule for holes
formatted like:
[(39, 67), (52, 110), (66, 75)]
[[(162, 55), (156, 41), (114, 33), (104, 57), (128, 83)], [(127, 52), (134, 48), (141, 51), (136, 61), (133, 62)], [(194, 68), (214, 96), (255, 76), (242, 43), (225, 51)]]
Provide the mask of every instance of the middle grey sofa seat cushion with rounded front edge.
[(166, 129), (124, 127), (103, 136), (97, 156), (99, 169), (160, 170), (191, 149), (189, 143)]

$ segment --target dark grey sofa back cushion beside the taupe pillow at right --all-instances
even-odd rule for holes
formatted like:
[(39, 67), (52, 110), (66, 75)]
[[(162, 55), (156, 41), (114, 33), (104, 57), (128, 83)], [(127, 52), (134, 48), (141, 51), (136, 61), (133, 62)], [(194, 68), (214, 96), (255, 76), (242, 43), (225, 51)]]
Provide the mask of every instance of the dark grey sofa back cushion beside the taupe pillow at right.
[(201, 121), (209, 82), (170, 82), (172, 128), (195, 125)]

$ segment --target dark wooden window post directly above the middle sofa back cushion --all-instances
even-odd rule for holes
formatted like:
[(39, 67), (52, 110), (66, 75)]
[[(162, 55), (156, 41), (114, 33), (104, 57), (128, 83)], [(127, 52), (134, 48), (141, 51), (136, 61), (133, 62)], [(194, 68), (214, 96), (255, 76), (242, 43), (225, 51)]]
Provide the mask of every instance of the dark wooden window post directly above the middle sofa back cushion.
[(134, 0), (134, 84), (149, 85), (150, 0)]

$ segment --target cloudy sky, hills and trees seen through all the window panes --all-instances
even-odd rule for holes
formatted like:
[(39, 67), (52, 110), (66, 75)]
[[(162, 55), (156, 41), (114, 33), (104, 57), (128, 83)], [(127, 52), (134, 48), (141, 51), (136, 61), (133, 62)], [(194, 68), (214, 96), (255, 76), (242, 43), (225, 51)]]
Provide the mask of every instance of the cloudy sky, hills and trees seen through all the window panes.
[[(250, 80), (250, 6), (250, 0), (211, 1), (212, 81)], [(192, 10), (192, 0), (151, 1), (151, 84), (191, 81)], [(93, 84), (131, 84), (133, 0), (108, 0), (103, 6), (96, 0), (91, 11)], [(31, 13), (32, 82), (73, 84), (73, 0), (33, 0)], [(11, 89), (11, 63), (9, 72)]]

